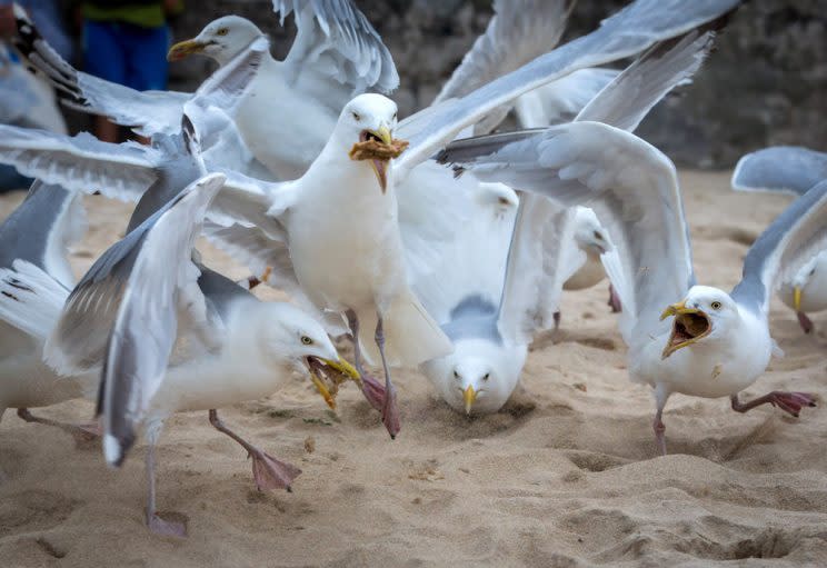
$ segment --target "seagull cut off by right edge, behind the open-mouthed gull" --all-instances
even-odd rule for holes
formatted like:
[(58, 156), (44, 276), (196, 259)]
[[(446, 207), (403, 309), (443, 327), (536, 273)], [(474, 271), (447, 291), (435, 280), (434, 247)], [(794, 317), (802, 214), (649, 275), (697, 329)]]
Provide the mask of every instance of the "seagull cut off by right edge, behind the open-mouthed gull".
[[(736, 191), (777, 191), (803, 196), (827, 179), (827, 153), (793, 146), (765, 148), (744, 156), (733, 172)], [(796, 311), (805, 333), (813, 331), (807, 312), (827, 309), (827, 250), (781, 282), (778, 297)]]

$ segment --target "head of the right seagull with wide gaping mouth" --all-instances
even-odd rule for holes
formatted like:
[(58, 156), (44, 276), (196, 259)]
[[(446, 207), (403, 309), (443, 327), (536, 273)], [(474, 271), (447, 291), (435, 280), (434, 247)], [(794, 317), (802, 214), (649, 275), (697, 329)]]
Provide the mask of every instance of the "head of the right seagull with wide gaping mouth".
[(734, 322), (740, 320), (738, 305), (718, 288), (694, 286), (684, 301), (668, 306), (660, 319), (674, 318), (671, 333), (662, 357), (684, 347), (714, 341), (726, 335)]

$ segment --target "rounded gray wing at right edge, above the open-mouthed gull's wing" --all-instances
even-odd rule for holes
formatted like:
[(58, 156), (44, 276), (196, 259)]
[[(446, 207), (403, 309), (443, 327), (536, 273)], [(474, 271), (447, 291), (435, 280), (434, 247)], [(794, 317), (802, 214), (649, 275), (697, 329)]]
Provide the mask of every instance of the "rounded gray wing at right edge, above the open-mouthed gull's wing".
[(774, 146), (748, 153), (733, 172), (738, 191), (790, 191), (797, 196), (827, 179), (827, 153), (797, 146)]

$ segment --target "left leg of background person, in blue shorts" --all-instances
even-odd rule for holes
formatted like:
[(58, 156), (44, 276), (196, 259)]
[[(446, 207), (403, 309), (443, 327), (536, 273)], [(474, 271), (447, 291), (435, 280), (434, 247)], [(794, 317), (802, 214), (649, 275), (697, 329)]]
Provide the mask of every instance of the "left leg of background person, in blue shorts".
[[(126, 84), (127, 63), (117, 23), (83, 21), (83, 69), (107, 81)], [(96, 117), (94, 136), (106, 142), (119, 141), (119, 127)]]

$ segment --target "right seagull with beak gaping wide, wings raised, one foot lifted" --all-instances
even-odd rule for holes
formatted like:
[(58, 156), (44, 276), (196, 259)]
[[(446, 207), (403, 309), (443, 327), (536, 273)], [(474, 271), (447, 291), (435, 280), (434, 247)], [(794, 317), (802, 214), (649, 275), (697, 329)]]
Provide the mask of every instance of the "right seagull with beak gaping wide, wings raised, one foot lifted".
[(599, 122), (572, 122), (500, 143), (460, 141), (440, 157), (499, 181), (572, 206), (588, 202), (618, 249), (610, 271), (624, 303), (621, 332), (629, 375), (654, 388), (657, 447), (666, 454), (664, 407), (670, 395), (729, 397), (746, 412), (770, 403), (791, 416), (813, 396), (774, 391), (751, 401), (738, 393), (778, 353), (770, 338), (769, 299), (827, 242), (827, 182), (796, 200), (749, 249), (730, 293), (695, 281), (688, 227), (675, 166), (652, 146)]

